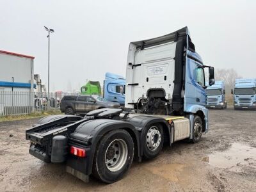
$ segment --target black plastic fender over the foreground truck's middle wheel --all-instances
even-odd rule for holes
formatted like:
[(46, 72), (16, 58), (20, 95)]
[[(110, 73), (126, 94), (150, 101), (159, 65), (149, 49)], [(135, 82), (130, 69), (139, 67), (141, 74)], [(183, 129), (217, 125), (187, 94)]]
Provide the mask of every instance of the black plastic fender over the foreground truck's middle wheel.
[(139, 116), (134, 116), (132, 118), (129, 118), (127, 122), (134, 125), (134, 127), (140, 133), (140, 157), (143, 156), (143, 153), (144, 153), (143, 145), (141, 145), (141, 143), (146, 142), (145, 141), (146, 138), (144, 137), (144, 135), (147, 134), (147, 132), (145, 132), (146, 131), (145, 128), (149, 127), (152, 124), (163, 125), (163, 129), (164, 129), (163, 131), (168, 134), (168, 139), (170, 141), (169, 143), (170, 145), (172, 144), (172, 135), (170, 131), (170, 125), (164, 118), (157, 117), (157, 116), (139, 115)]

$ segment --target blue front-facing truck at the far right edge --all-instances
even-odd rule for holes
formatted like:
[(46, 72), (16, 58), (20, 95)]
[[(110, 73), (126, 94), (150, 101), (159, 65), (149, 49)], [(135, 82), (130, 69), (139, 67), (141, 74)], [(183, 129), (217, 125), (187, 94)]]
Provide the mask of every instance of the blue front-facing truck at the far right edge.
[(236, 79), (234, 109), (256, 109), (256, 79)]

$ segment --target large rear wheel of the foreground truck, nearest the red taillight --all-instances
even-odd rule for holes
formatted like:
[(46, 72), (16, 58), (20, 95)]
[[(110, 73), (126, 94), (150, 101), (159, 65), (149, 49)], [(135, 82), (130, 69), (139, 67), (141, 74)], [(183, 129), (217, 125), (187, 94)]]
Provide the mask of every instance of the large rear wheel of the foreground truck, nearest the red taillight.
[(100, 140), (93, 159), (93, 176), (102, 182), (113, 183), (129, 170), (134, 155), (130, 134), (117, 129)]

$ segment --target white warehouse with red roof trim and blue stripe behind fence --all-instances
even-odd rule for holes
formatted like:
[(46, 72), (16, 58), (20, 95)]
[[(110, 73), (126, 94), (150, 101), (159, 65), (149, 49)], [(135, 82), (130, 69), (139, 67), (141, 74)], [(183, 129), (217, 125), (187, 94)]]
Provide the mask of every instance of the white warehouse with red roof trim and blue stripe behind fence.
[(0, 116), (33, 110), (34, 59), (33, 56), (0, 51)]

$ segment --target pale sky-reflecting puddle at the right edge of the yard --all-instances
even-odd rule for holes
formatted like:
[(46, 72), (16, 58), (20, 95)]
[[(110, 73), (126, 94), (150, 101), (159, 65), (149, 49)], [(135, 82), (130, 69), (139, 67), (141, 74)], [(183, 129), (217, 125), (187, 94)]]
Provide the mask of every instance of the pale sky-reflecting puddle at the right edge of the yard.
[(250, 165), (256, 168), (256, 148), (240, 143), (233, 143), (227, 151), (214, 152), (204, 157), (202, 161), (218, 168), (240, 172), (239, 166), (241, 165)]

